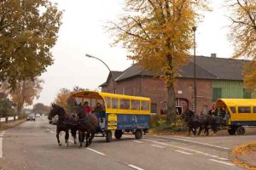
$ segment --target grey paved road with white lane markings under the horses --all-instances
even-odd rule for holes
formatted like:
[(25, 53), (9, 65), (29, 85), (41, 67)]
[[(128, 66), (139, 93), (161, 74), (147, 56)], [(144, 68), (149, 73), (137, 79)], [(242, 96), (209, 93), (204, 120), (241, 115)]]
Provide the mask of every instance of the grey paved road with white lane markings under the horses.
[[(256, 129), (244, 136), (222, 132), (212, 137), (147, 135), (136, 140), (134, 135), (124, 135), (112, 143), (96, 138), (90, 148), (82, 149), (70, 140), (68, 148), (59, 147), (55, 126), (49, 125), (46, 117), (25, 122), (3, 134), (0, 165), (8, 170), (242, 169), (230, 161), (230, 151), (256, 140)], [(61, 141), (64, 143), (64, 133)]]

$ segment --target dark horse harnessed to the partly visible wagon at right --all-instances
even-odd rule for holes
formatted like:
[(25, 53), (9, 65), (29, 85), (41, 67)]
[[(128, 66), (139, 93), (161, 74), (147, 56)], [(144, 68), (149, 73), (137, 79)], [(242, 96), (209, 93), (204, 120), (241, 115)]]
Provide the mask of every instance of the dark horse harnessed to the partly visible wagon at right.
[(197, 135), (201, 134), (201, 130), (204, 128), (207, 136), (209, 135), (209, 128), (212, 128), (213, 133), (217, 132), (217, 125), (214, 117), (211, 115), (196, 115), (193, 111), (184, 111), (182, 118), (187, 122), (189, 127), (189, 133), (192, 131), (194, 135), (196, 134), (196, 129), (199, 127), (199, 132)]

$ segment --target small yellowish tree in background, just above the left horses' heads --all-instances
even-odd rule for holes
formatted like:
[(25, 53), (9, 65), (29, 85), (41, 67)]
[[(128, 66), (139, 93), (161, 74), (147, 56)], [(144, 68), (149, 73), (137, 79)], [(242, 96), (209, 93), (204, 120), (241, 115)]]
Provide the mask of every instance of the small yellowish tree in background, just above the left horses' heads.
[(55, 103), (57, 105), (61, 105), (63, 108), (65, 108), (66, 111), (69, 111), (69, 105), (68, 100), (70, 97), (71, 91), (67, 88), (61, 88), (59, 93), (57, 94), (57, 97), (55, 98)]

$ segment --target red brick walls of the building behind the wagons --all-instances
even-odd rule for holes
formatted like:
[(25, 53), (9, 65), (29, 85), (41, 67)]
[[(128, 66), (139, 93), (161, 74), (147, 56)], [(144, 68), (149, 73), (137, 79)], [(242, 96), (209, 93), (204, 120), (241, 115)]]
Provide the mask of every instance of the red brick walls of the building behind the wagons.
[[(151, 103), (157, 105), (156, 112), (160, 113), (160, 109), (164, 109), (165, 102), (168, 100), (167, 89), (165, 83), (159, 78), (153, 77), (132, 77), (122, 82), (116, 82), (116, 93), (144, 96), (151, 99)], [(197, 88), (197, 106), (196, 112), (207, 113), (212, 108), (212, 80), (196, 80)], [(111, 87), (102, 88), (102, 92), (111, 92)], [(189, 78), (179, 78), (175, 82), (175, 93), (177, 98), (177, 106), (182, 111), (187, 106), (194, 110), (194, 80)]]

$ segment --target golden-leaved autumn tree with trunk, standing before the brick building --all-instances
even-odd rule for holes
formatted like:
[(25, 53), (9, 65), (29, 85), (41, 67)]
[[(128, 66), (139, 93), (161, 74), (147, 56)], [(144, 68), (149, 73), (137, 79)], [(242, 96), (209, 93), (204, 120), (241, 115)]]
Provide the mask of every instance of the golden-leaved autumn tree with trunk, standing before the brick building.
[(201, 19), (201, 9), (210, 10), (204, 1), (126, 0), (128, 14), (119, 23), (111, 22), (113, 44), (122, 42), (143, 69), (160, 77), (168, 91), (167, 122), (176, 118), (174, 83), (179, 66), (188, 62), (193, 48), (192, 27)]

